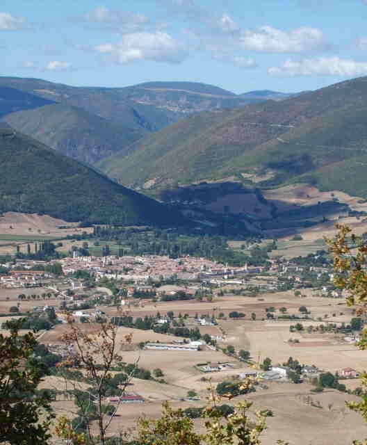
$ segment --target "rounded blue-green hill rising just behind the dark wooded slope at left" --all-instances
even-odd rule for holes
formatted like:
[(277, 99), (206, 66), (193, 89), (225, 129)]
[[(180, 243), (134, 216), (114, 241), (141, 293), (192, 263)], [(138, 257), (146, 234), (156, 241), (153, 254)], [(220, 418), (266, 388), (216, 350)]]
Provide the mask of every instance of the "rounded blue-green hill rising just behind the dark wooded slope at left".
[(124, 149), (143, 134), (141, 130), (62, 104), (17, 111), (3, 120), (58, 152), (90, 164)]

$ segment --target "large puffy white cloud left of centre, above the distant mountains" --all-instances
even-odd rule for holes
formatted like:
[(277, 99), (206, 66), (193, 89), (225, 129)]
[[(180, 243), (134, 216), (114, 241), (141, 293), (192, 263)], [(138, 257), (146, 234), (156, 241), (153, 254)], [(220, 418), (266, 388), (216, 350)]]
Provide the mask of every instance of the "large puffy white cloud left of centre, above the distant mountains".
[(117, 44), (99, 44), (95, 51), (110, 54), (116, 63), (137, 60), (179, 63), (186, 57), (180, 42), (161, 31), (155, 33), (130, 33), (122, 35)]

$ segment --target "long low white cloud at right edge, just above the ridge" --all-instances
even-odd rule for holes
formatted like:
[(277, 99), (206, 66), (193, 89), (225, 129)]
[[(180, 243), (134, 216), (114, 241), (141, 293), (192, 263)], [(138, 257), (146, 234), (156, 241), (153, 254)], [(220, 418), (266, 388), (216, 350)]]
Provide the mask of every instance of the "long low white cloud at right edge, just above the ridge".
[(299, 61), (286, 60), (280, 67), (271, 67), (268, 73), (278, 76), (363, 76), (367, 63), (339, 57), (320, 57)]

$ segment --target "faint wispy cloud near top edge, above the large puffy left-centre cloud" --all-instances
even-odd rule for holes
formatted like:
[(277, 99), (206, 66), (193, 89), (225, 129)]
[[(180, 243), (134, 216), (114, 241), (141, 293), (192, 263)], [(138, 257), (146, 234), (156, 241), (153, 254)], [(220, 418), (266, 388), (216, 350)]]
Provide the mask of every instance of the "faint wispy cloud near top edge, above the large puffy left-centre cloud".
[(145, 15), (130, 13), (122, 10), (109, 10), (105, 6), (99, 6), (95, 10), (80, 17), (70, 17), (73, 22), (97, 23), (106, 29), (115, 29), (121, 33), (140, 31), (149, 24)]

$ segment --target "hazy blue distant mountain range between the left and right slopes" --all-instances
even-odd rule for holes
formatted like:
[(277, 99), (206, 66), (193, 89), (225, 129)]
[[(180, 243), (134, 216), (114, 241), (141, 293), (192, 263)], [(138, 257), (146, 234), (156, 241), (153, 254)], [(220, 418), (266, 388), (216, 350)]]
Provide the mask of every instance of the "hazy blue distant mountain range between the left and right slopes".
[(90, 88), (0, 77), (0, 118), (60, 153), (92, 164), (115, 152), (128, 154), (136, 140), (190, 114), (282, 99), (283, 93), (249, 94), (193, 82)]

